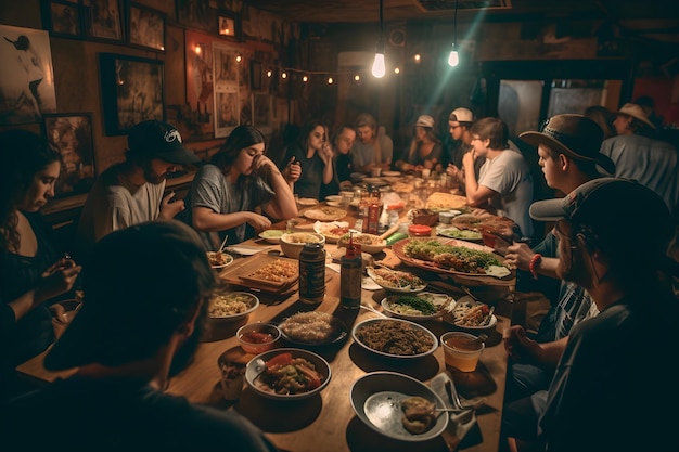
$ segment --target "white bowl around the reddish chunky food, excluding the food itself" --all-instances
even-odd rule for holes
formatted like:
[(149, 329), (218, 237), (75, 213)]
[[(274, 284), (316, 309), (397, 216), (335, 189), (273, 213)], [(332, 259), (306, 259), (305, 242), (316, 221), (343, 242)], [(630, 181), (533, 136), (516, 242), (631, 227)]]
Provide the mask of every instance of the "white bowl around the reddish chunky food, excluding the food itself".
[[(259, 382), (259, 374), (265, 370), (266, 362), (268, 360), (282, 353), (291, 353), (293, 359), (304, 358), (305, 360), (313, 364), (313, 366), (316, 367), (316, 372), (318, 372), (322, 376), (320, 386), (306, 392), (290, 395), (276, 393), (273, 390), (268, 389), (261, 382)], [(298, 348), (276, 348), (273, 350), (265, 351), (264, 353), (260, 353), (253, 358), (247, 363), (247, 367), (245, 369), (245, 380), (247, 382), (247, 385), (253, 389), (253, 391), (268, 399), (283, 401), (293, 401), (316, 396), (317, 393), (322, 391), (325, 386), (328, 386), (331, 377), (332, 372), (330, 370), (330, 364), (328, 363), (328, 361), (325, 361), (321, 356), (312, 351)]]

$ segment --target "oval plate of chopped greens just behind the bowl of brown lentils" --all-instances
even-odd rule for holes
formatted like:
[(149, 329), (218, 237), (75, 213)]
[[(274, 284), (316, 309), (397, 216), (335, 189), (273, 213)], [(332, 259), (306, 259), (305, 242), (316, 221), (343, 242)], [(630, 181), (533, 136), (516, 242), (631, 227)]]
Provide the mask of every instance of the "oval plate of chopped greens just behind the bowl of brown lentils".
[[(389, 317), (406, 319), (413, 322), (432, 320), (441, 317), (452, 298), (446, 294), (389, 295), (382, 300), (382, 308)], [(452, 301), (454, 305), (454, 301)]]

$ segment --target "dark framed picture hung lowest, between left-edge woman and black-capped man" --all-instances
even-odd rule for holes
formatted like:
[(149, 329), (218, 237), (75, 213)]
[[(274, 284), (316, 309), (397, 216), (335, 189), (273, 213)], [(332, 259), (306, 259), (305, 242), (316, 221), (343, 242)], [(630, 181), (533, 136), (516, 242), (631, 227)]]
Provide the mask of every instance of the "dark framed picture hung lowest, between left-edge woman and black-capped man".
[(55, 197), (88, 193), (95, 173), (92, 114), (46, 114), (42, 127), (47, 140), (62, 155), (62, 169), (54, 185)]

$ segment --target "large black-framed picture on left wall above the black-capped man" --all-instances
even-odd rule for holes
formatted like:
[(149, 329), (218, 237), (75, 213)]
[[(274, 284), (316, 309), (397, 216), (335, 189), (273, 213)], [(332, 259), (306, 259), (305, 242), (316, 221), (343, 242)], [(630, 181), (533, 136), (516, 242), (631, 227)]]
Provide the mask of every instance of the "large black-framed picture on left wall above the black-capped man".
[(163, 61), (114, 53), (99, 59), (106, 134), (125, 134), (143, 120), (165, 120)]

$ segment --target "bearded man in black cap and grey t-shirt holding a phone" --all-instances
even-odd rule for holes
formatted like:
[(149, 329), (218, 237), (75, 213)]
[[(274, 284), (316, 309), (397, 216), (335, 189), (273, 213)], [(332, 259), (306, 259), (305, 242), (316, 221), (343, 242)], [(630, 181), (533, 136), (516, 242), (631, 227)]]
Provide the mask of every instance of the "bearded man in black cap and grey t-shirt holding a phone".
[(165, 180), (183, 165), (200, 162), (181, 143), (177, 128), (148, 120), (129, 131), (125, 162), (113, 165), (94, 182), (78, 224), (80, 259), (92, 245), (118, 229), (144, 221), (168, 220), (184, 209), (184, 202), (165, 193)]

